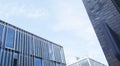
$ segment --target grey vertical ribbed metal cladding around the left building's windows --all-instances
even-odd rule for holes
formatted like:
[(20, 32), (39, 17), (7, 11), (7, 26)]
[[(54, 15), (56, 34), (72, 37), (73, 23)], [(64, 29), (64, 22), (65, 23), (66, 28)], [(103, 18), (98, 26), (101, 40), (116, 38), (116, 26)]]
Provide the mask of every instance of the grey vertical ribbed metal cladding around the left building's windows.
[[(1, 22), (0, 22), (1, 24)], [(12, 26), (7, 23), (3, 23), (5, 28), (3, 29), (2, 36), (6, 37), (7, 27), (15, 30), (15, 38), (14, 38), (14, 48), (4, 48), (5, 39), (2, 38), (2, 47), (0, 48), (0, 65), (1, 66), (13, 66), (14, 63), (14, 53), (18, 53), (18, 65), (17, 66), (34, 66), (34, 58), (42, 58), (43, 66), (55, 66), (55, 62), (61, 62), (61, 46), (53, 44), (52, 42), (30, 34), (24, 30), (21, 30), (15, 26)], [(30, 49), (30, 38), (33, 37), (32, 41), (32, 49)], [(50, 61), (49, 58), (49, 48), (48, 45), (52, 45), (51, 51), (55, 50), (53, 45), (55, 45), (56, 50), (53, 51), (53, 60)], [(30, 50), (32, 53), (30, 54)], [(57, 52), (58, 51), (58, 52)], [(54, 55), (56, 55), (56, 61), (54, 60)], [(50, 64), (50, 62), (52, 62)]]

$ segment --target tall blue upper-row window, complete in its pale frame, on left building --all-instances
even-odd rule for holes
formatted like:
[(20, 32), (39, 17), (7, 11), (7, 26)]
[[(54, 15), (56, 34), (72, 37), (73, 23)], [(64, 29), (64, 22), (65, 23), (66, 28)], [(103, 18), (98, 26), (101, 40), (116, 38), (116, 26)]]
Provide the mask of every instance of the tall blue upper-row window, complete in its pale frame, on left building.
[(7, 29), (6, 33), (6, 47), (13, 48), (14, 47), (14, 34), (15, 31), (11, 28)]

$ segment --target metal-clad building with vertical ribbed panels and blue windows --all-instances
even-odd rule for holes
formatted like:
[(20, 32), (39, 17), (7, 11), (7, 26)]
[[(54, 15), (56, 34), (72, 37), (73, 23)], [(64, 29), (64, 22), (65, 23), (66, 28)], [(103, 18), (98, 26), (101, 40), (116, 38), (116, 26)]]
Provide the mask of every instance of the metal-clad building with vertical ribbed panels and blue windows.
[(63, 47), (0, 20), (0, 66), (66, 66)]

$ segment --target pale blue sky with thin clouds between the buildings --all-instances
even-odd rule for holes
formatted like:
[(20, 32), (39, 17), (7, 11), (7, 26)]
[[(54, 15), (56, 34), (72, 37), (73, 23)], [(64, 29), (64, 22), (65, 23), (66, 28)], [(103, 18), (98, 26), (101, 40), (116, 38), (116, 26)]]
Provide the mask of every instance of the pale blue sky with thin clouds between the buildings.
[(67, 64), (91, 57), (107, 65), (82, 0), (0, 0), (0, 19), (62, 45)]

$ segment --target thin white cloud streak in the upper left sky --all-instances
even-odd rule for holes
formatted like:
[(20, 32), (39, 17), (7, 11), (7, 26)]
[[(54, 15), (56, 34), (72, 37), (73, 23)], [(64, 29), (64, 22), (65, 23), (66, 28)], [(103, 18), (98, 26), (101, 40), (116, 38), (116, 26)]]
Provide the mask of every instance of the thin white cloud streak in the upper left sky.
[(44, 8), (33, 8), (16, 3), (0, 3), (0, 15), (3, 17), (24, 17), (38, 19), (48, 16), (48, 10)]

